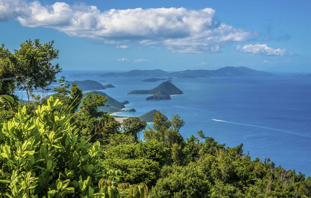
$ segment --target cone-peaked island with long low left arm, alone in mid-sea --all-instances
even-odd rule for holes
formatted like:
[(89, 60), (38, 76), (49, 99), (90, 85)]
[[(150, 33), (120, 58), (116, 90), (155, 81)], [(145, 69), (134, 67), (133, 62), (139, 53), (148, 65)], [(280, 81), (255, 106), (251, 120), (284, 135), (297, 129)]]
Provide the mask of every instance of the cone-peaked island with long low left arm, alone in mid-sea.
[(146, 100), (169, 100), (171, 99), (170, 95), (183, 94), (183, 92), (173, 85), (173, 83), (163, 82), (152, 90), (134, 90), (128, 92), (128, 94), (153, 94), (147, 97)]

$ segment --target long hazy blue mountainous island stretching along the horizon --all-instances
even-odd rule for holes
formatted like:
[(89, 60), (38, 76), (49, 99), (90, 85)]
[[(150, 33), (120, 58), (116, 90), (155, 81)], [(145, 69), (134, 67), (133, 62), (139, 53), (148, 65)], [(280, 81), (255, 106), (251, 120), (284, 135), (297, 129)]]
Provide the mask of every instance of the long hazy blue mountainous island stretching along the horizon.
[(100, 74), (102, 77), (163, 77), (177, 78), (199, 78), (211, 76), (274, 76), (275, 74), (250, 69), (248, 67), (223, 67), (217, 70), (185, 70), (166, 72), (160, 69), (155, 70), (131, 70), (128, 72), (109, 72)]

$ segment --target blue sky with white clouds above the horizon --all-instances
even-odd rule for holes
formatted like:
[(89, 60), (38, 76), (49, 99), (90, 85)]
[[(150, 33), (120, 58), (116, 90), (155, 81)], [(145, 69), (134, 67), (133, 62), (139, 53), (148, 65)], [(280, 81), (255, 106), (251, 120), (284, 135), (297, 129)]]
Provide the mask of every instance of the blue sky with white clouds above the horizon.
[(0, 0), (0, 44), (54, 40), (64, 70), (311, 73), (311, 1)]

